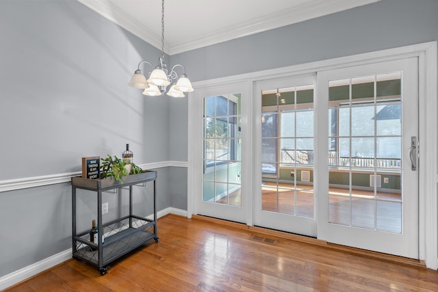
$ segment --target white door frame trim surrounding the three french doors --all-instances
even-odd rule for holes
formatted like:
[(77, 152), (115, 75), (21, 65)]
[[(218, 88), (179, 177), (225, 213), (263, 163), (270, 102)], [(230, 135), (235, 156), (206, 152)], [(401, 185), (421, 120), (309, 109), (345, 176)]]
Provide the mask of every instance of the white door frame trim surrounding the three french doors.
[[(244, 75), (235, 75), (231, 77), (222, 77), (206, 81), (194, 82), (194, 88), (218, 87), (227, 83), (242, 82), (248, 85), (248, 92), (254, 94), (253, 83), (255, 81), (271, 79), (275, 77), (286, 77), (292, 75), (302, 75), (319, 70), (330, 70), (342, 68), (345, 66), (355, 66), (361, 64), (389, 61), (391, 59), (400, 59), (406, 57), (418, 57), (419, 59), (419, 137), (420, 137), (420, 164), (419, 164), (419, 256), (420, 260), (425, 261), (426, 266), (430, 269), (438, 269), (438, 215), (437, 215), (437, 42), (426, 42), (422, 44), (413, 44), (407, 47), (396, 49), (387, 49), (375, 51), (372, 53), (363, 53), (347, 57), (328, 59), (320, 62), (288, 66), (272, 70), (264, 70)], [(202, 103), (196, 96), (195, 92), (189, 94), (188, 98), (188, 217), (194, 214), (194, 196), (198, 196), (198, 186), (202, 183), (200, 178), (196, 177), (196, 169), (200, 168), (202, 163), (196, 159), (196, 135), (195, 130), (199, 118), (196, 116), (196, 105)], [(318, 92), (316, 93), (318, 94)], [(251, 96), (252, 97), (252, 96)], [(251, 103), (253, 98), (248, 98), (246, 106), (248, 109), (253, 108)], [(246, 109), (247, 110), (247, 109)], [(244, 116), (242, 107), (242, 127), (246, 126), (248, 134), (253, 135), (254, 115), (250, 110), (246, 111)], [(242, 133), (243, 135), (243, 133)], [(249, 136), (249, 135), (248, 135)], [(252, 137), (247, 137), (252, 139)], [(244, 142), (242, 137), (242, 143)], [(247, 141), (248, 142), (248, 141)], [(252, 157), (253, 148), (248, 148), (245, 153), (247, 158)], [(243, 152), (242, 152), (243, 155)], [(244, 157), (242, 157), (243, 161)], [(244, 177), (252, 179), (252, 174), (248, 165), (247, 173), (244, 174), (244, 165), (242, 163), (242, 183)], [(248, 183), (247, 189), (251, 193), (251, 183)], [(242, 186), (243, 187), (243, 186)], [(250, 196), (248, 196), (250, 197)], [(248, 204), (252, 204), (251, 198), (248, 198)], [(251, 208), (247, 207), (248, 226), (253, 225), (253, 213)]]

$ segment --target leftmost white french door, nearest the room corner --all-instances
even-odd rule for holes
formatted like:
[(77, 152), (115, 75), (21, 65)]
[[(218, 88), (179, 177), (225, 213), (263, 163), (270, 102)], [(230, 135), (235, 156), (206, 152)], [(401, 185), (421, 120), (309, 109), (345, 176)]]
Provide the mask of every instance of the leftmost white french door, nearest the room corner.
[(196, 214), (246, 223), (242, 103), (249, 94), (245, 88), (239, 83), (196, 92), (196, 113), (202, 114), (194, 125), (196, 141), (201, 142), (196, 164), (202, 165), (196, 174), (196, 185), (201, 186), (194, 200)]

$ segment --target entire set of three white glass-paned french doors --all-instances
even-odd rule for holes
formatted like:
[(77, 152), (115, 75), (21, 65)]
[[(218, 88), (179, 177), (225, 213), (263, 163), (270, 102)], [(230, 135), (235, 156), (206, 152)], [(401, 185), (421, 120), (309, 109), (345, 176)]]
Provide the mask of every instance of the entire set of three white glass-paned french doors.
[(419, 258), (417, 63), (197, 90), (194, 213)]

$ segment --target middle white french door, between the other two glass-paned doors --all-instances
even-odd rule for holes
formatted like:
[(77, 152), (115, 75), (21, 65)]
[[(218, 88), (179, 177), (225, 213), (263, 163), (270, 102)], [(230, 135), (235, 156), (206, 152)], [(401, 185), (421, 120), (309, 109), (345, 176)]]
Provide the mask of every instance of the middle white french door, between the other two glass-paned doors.
[(254, 224), (316, 236), (315, 75), (255, 84)]

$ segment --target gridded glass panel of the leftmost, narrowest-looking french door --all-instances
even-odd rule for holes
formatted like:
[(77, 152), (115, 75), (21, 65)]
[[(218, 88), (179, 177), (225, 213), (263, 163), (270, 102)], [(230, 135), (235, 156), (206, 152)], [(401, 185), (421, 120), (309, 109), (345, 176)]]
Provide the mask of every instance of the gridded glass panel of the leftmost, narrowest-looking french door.
[(204, 98), (203, 202), (241, 205), (240, 94)]

